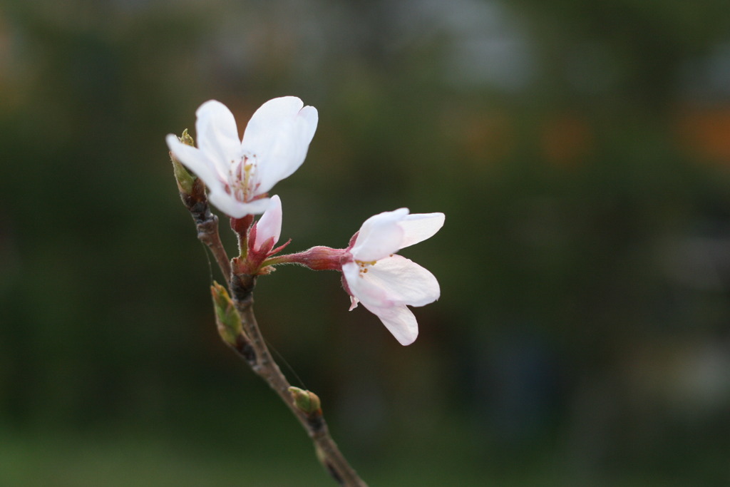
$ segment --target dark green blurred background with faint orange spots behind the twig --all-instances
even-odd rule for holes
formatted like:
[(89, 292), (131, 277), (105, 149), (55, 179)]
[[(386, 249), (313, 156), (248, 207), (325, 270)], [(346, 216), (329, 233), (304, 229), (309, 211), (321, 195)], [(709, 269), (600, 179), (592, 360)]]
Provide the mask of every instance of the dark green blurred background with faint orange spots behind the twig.
[(334, 484), (217, 337), (164, 143), (283, 95), (320, 112), (275, 188), (291, 250), (447, 215), (402, 252), (442, 287), (410, 347), (334, 272), (258, 283), (364, 480), (727, 485), (727, 7), (2, 2), (0, 485)]

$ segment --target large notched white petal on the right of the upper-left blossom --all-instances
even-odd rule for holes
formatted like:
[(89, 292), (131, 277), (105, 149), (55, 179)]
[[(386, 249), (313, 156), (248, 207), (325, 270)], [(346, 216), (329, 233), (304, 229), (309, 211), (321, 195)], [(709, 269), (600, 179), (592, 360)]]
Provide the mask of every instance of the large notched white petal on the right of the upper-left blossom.
[(314, 107), (302, 107), (296, 96), (266, 101), (251, 117), (243, 134), (243, 150), (257, 161), (257, 194), (269, 191), (304, 162), (317, 129)]

